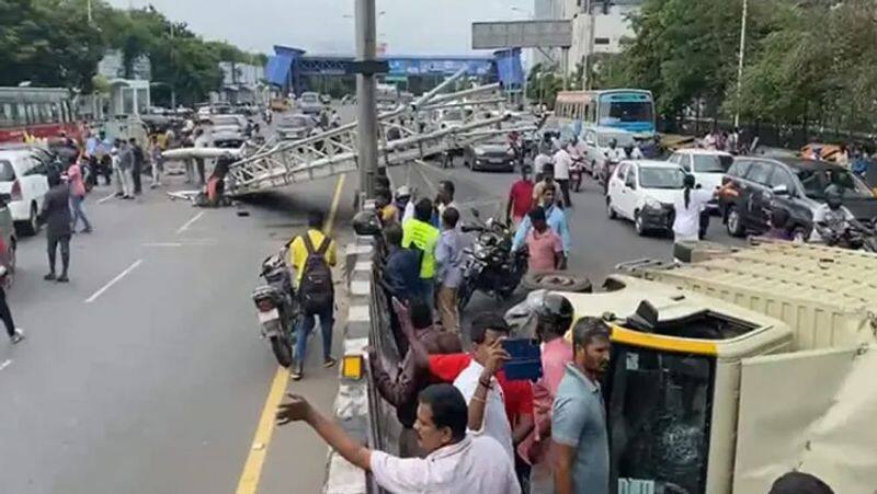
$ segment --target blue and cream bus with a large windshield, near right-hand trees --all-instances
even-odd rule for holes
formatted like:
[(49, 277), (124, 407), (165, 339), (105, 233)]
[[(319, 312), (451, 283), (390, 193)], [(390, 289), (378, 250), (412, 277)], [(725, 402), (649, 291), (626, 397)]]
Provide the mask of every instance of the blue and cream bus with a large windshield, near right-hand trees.
[(654, 100), (651, 91), (641, 89), (562, 91), (557, 94), (555, 116), (571, 124), (576, 135), (583, 128), (611, 127), (649, 139), (656, 131)]

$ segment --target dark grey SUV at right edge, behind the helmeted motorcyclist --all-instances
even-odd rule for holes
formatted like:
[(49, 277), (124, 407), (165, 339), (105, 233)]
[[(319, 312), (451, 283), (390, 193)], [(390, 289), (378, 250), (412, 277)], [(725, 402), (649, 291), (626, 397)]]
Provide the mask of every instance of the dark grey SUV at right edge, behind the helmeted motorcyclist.
[(877, 197), (852, 172), (825, 161), (800, 158), (736, 158), (726, 180), (737, 194), (719, 202), (728, 233), (743, 237), (770, 229), (771, 211), (785, 209), (796, 238), (806, 239), (813, 227), (813, 212), (824, 203), (829, 185), (844, 189), (843, 204), (858, 220), (877, 217)]

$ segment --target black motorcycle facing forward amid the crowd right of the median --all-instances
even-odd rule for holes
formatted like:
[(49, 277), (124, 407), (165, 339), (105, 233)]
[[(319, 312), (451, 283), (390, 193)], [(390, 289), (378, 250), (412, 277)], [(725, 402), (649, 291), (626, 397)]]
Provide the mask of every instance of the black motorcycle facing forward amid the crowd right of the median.
[(477, 233), (471, 248), (465, 249), (463, 283), (457, 291), (459, 310), (466, 308), (476, 290), (493, 296), (498, 301), (511, 298), (527, 272), (526, 251), (512, 252), (514, 233), (505, 223), (489, 218), (479, 225), (464, 226), (464, 232)]

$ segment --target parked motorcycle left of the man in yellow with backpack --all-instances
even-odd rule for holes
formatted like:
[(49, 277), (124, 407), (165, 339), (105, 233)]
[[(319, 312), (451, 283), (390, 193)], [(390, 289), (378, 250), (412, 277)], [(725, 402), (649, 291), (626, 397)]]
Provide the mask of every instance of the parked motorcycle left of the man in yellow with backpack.
[(277, 364), (293, 364), (294, 332), (300, 310), (293, 287), (293, 275), (286, 266), (286, 249), (262, 261), (259, 274), (265, 285), (253, 290), (252, 299), (261, 324), (261, 337), (267, 338)]

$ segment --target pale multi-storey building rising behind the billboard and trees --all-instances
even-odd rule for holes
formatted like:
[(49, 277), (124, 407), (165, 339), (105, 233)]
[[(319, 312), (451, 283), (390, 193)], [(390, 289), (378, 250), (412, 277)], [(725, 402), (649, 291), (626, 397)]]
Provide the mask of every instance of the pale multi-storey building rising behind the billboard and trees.
[[(566, 73), (584, 65), (589, 54), (617, 54), (625, 37), (634, 35), (629, 16), (645, 0), (535, 0), (534, 18), (572, 22), (572, 45), (568, 50), (534, 50), (535, 64), (557, 64)], [(591, 15), (588, 7), (591, 7)], [(593, 26), (593, 28), (592, 28)], [(593, 32), (593, 35), (591, 33)], [(550, 59), (545, 56), (548, 54)]]

